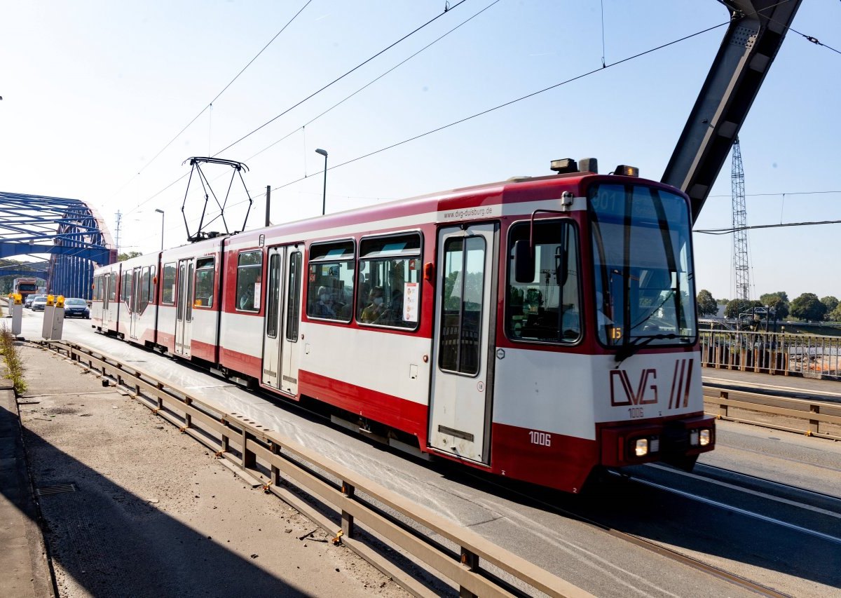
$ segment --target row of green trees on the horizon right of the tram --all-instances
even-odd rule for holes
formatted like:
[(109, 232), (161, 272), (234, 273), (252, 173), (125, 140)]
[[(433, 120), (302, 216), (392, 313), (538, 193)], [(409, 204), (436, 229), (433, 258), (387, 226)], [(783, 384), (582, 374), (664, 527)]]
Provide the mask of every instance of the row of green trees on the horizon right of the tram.
[(756, 299), (714, 299), (712, 294), (703, 289), (698, 294), (698, 315), (717, 315), (719, 305), (727, 305), (724, 308), (724, 316), (727, 318), (738, 318), (739, 315), (753, 312), (754, 308), (765, 308), (775, 310), (778, 320), (791, 318), (794, 320), (807, 320), (812, 322), (830, 321), (841, 322), (841, 304), (832, 295), (821, 299), (814, 293), (804, 293), (789, 301), (785, 291), (766, 293)]

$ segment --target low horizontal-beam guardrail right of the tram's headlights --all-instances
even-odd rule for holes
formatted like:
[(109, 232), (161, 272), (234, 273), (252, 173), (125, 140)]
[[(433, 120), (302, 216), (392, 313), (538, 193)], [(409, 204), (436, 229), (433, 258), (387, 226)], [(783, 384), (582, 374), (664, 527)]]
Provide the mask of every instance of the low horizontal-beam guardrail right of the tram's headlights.
[[(731, 394), (761, 402), (731, 399)], [(766, 401), (776, 405), (766, 405)], [(740, 421), (775, 430), (794, 431), (807, 436), (841, 440), (841, 403), (787, 399), (769, 394), (722, 390), (705, 386), (704, 404), (716, 408), (712, 411), (706, 410), (706, 413), (715, 415), (720, 420)], [(783, 421), (768, 421), (769, 418), (763, 418), (762, 415), (775, 415), (777, 418), (783, 418)], [(804, 426), (786, 425), (791, 420), (797, 424), (801, 421), (806, 423)]]

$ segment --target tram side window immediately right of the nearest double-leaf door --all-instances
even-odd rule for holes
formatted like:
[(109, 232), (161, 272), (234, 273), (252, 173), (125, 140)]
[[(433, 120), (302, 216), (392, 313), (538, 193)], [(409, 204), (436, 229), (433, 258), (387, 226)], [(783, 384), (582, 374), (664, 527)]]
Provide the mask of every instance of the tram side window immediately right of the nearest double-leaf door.
[(309, 247), (307, 315), (351, 321), (353, 306), (353, 241)]

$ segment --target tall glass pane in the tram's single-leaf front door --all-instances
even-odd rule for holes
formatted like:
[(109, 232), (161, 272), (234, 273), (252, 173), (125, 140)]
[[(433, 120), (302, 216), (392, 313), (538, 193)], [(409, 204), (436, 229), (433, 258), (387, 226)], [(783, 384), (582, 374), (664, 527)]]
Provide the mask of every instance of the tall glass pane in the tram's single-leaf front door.
[(485, 243), (481, 236), (444, 243), (443, 315), (440, 367), (448, 372), (479, 373), (482, 340)]

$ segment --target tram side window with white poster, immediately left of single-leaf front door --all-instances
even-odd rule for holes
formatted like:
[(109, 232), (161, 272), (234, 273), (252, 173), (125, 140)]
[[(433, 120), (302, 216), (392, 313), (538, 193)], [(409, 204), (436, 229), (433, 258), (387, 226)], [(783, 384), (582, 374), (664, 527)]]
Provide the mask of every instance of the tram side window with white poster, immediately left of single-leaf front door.
[(421, 235), (359, 243), (357, 322), (417, 328), (421, 305)]

